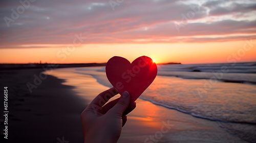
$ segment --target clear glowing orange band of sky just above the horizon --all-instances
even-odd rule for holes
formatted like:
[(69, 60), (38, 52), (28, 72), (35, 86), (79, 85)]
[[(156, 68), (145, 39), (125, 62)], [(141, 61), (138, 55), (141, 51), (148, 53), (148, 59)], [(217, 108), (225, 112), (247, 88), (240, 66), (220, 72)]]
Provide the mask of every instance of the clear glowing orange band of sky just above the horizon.
[[(73, 51), (67, 46), (58, 48), (1, 49), (1, 63), (91, 63), (106, 62), (113, 56), (133, 61), (146, 55), (157, 63), (181, 62), (216, 63), (256, 61), (256, 42), (215, 43), (151, 43), (151, 44), (83, 44)], [(245, 50), (243, 49), (245, 45)], [(49, 45), (48, 45), (49, 46)], [(54, 46), (54, 45), (52, 45)], [(237, 55), (237, 57), (236, 57)], [(228, 61), (229, 60), (229, 61)]]

